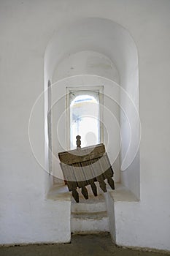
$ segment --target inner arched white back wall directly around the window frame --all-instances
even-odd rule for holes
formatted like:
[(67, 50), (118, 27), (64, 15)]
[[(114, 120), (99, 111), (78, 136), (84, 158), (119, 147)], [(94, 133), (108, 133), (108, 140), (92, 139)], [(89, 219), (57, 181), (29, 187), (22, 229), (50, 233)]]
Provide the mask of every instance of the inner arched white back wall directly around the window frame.
[[(69, 78), (71, 77), (71, 78)], [(104, 78), (108, 78), (104, 79)], [(67, 79), (64, 79), (67, 78)], [(63, 80), (62, 80), (63, 79)], [(60, 80), (58, 83), (55, 81)], [(106, 56), (94, 51), (84, 50), (69, 54), (55, 69), (53, 75), (53, 175), (61, 177), (58, 152), (66, 151), (66, 87), (104, 86), (104, 105), (101, 107), (104, 124), (104, 144), (115, 170), (115, 182), (120, 182), (120, 92), (115, 64)], [(115, 84), (115, 83), (114, 83)], [(89, 87), (90, 89), (90, 87)], [(65, 127), (65, 128), (63, 128)]]

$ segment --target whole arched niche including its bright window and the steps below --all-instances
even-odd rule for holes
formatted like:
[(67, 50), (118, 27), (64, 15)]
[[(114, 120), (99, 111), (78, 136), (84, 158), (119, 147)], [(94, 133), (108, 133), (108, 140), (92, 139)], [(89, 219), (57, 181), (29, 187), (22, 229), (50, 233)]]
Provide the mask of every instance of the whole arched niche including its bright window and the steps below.
[[(45, 98), (45, 115), (49, 110), (52, 113), (46, 124), (52, 147), (52, 151), (46, 152), (53, 162), (47, 165), (55, 176), (50, 179), (50, 187), (63, 182), (58, 152), (74, 148), (75, 137), (80, 133), (82, 146), (106, 145), (115, 182), (139, 198), (138, 79), (136, 45), (128, 31), (117, 23), (88, 18), (55, 34), (45, 53), (45, 89), (48, 80), (52, 84)], [(102, 86), (101, 97), (98, 86)], [(91, 111), (91, 117), (88, 108), (96, 111)], [(93, 134), (90, 142), (88, 132)], [(115, 222), (109, 206), (112, 199), (107, 197), (105, 201), (99, 187), (98, 194), (100, 200), (92, 197), (87, 203), (82, 200), (79, 206), (72, 203), (72, 232), (110, 231), (109, 219)], [(115, 233), (113, 226), (111, 233)]]

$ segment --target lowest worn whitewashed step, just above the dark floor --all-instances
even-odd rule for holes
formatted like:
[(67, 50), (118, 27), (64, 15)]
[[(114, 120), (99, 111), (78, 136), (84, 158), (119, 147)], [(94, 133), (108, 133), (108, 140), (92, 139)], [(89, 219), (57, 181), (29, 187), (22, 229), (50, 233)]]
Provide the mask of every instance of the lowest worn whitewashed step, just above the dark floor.
[(72, 214), (72, 233), (109, 232), (109, 218), (106, 211), (91, 214)]

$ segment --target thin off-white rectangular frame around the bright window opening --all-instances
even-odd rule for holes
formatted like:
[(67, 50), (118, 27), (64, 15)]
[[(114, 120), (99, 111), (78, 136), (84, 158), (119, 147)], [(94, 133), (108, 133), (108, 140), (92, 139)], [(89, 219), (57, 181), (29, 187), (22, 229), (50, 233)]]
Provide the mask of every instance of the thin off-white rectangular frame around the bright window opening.
[(99, 99), (100, 143), (104, 143), (104, 86), (66, 87), (66, 148), (70, 150), (70, 93), (72, 91), (97, 91)]

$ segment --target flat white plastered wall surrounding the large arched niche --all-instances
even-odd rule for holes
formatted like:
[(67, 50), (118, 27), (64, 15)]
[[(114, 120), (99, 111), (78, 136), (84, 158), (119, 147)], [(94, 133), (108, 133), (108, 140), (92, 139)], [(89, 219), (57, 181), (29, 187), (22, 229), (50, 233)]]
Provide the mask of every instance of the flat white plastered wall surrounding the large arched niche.
[[(117, 244), (170, 250), (169, 10), (167, 0), (1, 1), (1, 244), (69, 241), (68, 225), (61, 227), (66, 204), (45, 201), (48, 175), (31, 152), (28, 118), (43, 90), (43, 58), (54, 32), (100, 17), (125, 27), (139, 52), (140, 202), (115, 203)], [(44, 156), (40, 124), (43, 102), (35, 137)]]

